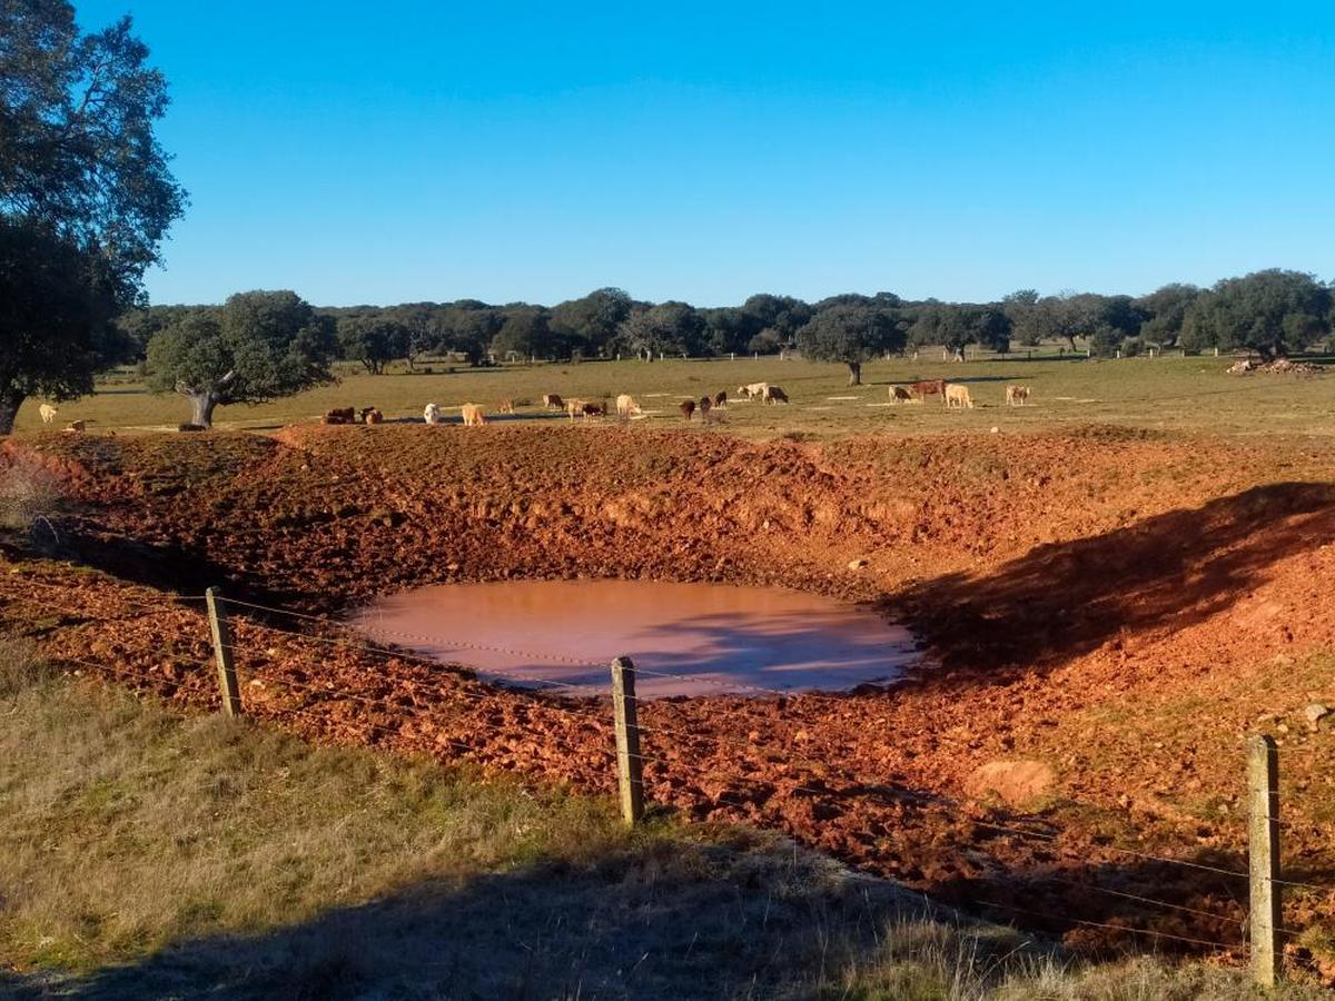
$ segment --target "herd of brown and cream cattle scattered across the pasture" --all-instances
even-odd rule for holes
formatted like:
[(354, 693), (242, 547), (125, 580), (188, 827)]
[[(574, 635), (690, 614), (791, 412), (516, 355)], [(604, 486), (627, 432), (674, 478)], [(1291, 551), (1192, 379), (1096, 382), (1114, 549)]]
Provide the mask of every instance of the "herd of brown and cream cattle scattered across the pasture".
[[(941, 396), (941, 402), (947, 408), (973, 408), (973, 396), (969, 392), (969, 387), (961, 383), (947, 382), (945, 379), (925, 379), (922, 382), (909, 383), (908, 386), (890, 386), (890, 403), (922, 403), (928, 396)], [(781, 386), (773, 386), (768, 382), (753, 382), (748, 386), (737, 387), (737, 398), (745, 400), (758, 400), (760, 403), (788, 403), (788, 394), (784, 392)], [(1029, 400), (1029, 387), (1028, 386), (1007, 386), (1005, 387), (1005, 402), (1009, 407), (1023, 407)], [(514, 414), (514, 400), (501, 400), (497, 404), (497, 412), (499, 414)], [(582, 418), (589, 420), (590, 418), (605, 418), (607, 416), (607, 403), (605, 400), (590, 400), (571, 398), (566, 399), (555, 392), (549, 392), (542, 398), (542, 406), (547, 411), (565, 411), (566, 416), (573, 422), (575, 418)], [(728, 408), (728, 391), (720, 390), (714, 395), (704, 395), (700, 400), (685, 399), (677, 408), (681, 411), (682, 419), (692, 420), (698, 412), (701, 420), (709, 423), (710, 420), (718, 419), (720, 411)], [(43, 407), (43, 419), (47, 419), (47, 407)], [(53, 412), (53, 408), (52, 408)], [(459, 407), (461, 416), (463, 418), (465, 427), (475, 427), (478, 424), (487, 423), (487, 414), (477, 403), (465, 403)], [(621, 394), (617, 396), (617, 418), (621, 420), (630, 420), (633, 418), (642, 416), (645, 414), (639, 402), (629, 394)], [(426, 408), (422, 411), (422, 418), (429, 424), (443, 423), (445, 411), (435, 403), (427, 403)], [(336, 410), (330, 410), (324, 414), (320, 420), (326, 424), (379, 424), (384, 420), (384, 415), (375, 407), (362, 407), (355, 410), (354, 407), (339, 407)]]

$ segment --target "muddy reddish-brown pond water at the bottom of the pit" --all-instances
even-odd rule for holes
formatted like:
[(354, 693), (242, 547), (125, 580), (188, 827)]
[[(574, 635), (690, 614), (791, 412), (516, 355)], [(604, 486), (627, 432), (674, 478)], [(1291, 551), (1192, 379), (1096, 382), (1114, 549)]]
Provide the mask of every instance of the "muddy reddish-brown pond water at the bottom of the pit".
[(913, 635), (874, 611), (777, 587), (443, 585), (379, 598), (351, 622), (372, 639), (469, 665), (481, 677), (538, 686), (606, 687), (607, 665), (626, 655), (649, 698), (746, 694), (750, 686), (846, 690), (892, 682), (918, 659)]

